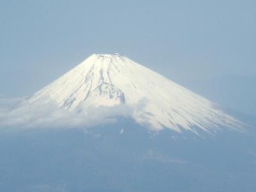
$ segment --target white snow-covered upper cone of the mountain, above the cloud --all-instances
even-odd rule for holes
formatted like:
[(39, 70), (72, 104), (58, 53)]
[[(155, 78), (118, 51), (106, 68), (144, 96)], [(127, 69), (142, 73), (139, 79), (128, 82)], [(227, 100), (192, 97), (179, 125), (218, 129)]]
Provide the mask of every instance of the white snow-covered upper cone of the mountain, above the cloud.
[(157, 131), (216, 131), (239, 124), (211, 101), (120, 54), (93, 54), (28, 100), (35, 102), (87, 115), (92, 108), (125, 106), (138, 124)]

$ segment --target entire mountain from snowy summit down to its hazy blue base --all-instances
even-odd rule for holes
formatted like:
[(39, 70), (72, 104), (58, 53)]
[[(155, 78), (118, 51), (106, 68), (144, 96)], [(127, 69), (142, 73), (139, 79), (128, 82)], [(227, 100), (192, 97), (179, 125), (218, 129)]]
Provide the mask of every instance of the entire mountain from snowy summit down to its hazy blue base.
[(0, 191), (254, 192), (255, 119), (93, 54), (0, 109)]

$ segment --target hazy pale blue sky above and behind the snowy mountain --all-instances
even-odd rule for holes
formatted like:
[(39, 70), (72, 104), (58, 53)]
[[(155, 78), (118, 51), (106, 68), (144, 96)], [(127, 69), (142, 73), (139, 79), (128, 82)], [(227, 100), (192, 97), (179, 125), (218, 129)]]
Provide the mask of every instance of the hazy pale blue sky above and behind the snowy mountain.
[(124, 54), (256, 115), (256, 1), (0, 0), (0, 96), (24, 97), (93, 53)]

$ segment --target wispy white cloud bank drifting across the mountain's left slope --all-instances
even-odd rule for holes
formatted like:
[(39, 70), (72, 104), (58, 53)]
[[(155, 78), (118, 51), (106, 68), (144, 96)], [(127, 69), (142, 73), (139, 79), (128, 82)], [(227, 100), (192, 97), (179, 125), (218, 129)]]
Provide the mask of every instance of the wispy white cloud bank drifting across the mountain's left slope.
[(54, 102), (48, 104), (20, 102), (17, 108), (0, 108), (0, 126), (11, 127), (90, 127), (109, 124), (117, 116), (131, 117), (132, 108), (125, 105), (86, 108), (86, 111), (68, 111), (58, 108)]

